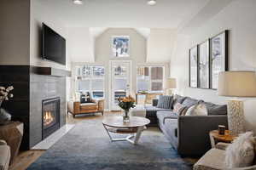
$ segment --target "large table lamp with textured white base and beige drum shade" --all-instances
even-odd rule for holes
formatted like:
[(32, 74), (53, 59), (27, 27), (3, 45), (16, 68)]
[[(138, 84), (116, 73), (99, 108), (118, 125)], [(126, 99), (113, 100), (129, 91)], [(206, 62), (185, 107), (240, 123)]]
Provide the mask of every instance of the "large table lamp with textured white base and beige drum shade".
[(235, 97), (228, 99), (228, 122), (230, 134), (238, 135), (245, 131), (244, 99), (256, 97), (255, 71), (223, 71), (218, 75), (218, 95)]

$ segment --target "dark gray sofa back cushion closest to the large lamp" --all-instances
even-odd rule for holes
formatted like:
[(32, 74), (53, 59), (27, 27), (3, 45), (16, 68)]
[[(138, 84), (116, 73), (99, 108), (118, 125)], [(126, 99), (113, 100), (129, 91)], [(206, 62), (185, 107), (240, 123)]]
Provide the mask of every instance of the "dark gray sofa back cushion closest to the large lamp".
[(203, 102), (207, 106), (208, 115), (227, 115), (227, 105), (215, 105), (211, 102)]

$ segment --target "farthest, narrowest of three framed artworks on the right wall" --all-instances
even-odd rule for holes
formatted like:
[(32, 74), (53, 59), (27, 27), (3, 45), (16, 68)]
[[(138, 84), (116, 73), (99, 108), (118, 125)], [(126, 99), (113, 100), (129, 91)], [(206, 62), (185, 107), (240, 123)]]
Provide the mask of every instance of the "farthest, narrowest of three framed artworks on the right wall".
[(197, 88), (198, 82), (198, 48), (189, 49), (189, 87)]

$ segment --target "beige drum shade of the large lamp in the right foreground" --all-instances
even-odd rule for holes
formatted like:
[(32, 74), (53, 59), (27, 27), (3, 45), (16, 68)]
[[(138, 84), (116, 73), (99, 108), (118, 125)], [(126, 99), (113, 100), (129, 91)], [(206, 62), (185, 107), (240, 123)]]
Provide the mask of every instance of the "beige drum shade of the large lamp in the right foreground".
[(218, 95), (256, 97), (254, 71), (223, 71), (218, 75)]

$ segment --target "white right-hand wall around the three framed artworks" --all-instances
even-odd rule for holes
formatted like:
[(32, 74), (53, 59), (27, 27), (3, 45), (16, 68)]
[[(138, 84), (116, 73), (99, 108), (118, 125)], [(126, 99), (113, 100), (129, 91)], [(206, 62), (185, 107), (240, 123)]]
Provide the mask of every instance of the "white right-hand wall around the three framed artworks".
[[(214, 103), (226, 103), (217, 91), (189, 88), (189, 48), (226, 29), (230, 30), (230, 70), (256, 67), (256, 1), (235, 0), (189, 35), (178, 35), (171, 58), (171, 77), (177, 77), (177, 93)], [(254, 105), (253, 105), (254, 103)], [(255, 101), (246, 103), (247, 129), (256, 133)]]

